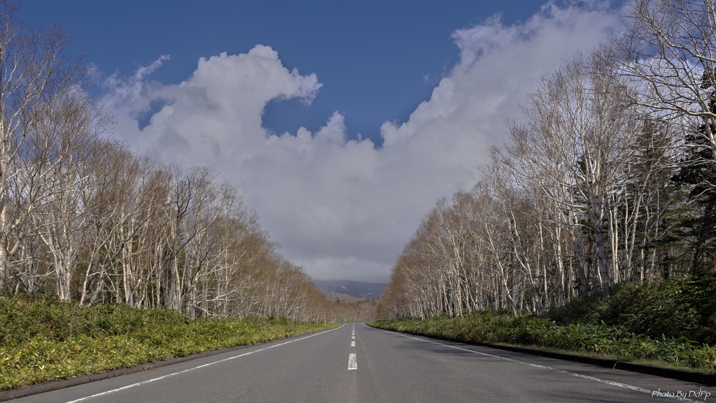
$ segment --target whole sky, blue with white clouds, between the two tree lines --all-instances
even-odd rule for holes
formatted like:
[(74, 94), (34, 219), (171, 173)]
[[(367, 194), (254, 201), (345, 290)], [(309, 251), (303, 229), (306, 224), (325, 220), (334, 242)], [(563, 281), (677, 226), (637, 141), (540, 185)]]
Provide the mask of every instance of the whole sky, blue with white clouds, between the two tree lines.
[(114, 137), (215, 168), (314, 278), (373, 282), (541, 75), (616, 23), (599, 0), (19, 4), (76, 37)]

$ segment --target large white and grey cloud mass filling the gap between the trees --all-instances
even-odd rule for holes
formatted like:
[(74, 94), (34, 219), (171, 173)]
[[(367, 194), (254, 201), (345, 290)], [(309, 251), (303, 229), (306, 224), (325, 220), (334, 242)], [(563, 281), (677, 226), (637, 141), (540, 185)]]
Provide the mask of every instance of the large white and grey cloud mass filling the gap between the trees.
[(115, 136), (164, 162), (215, 167), (284, 256), (314, 278), (383, 282), (435, 200), (477, 181), (475, 166), (503, 141), (505, 120), (541, 74), (588, 51), (613, 19), (599, 6), (550, 3), (521, 24), (493, 17), (455, 31), (460, 61), (407, 122), (382, 125), (381, 147), (349, 139), (338, 112), (318, 132), (267, 132), (269, 102), (310, 104), (321, 84), (263, 45), (202, 58), (175, 85), (150, 80), (161, 57), (132, 77), (107, 79), (107, 105)]

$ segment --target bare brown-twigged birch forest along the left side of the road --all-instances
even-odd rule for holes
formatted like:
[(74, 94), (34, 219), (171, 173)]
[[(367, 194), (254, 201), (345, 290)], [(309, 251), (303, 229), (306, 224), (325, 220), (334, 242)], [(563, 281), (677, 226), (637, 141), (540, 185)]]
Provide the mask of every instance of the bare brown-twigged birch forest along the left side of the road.
[(329, 304), (236, 188), (108, 140), (70, 42), (0, 4), (2, 293), (324, 321)]

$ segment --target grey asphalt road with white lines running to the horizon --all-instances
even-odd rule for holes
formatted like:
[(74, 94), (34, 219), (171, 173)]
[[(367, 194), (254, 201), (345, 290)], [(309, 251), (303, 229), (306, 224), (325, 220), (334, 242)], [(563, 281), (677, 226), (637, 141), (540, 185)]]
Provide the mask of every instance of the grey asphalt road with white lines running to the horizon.
[(716, 388), (695, 383), (344, 324), (12, 402), (656, 403), (682, 395), (716, 402)]

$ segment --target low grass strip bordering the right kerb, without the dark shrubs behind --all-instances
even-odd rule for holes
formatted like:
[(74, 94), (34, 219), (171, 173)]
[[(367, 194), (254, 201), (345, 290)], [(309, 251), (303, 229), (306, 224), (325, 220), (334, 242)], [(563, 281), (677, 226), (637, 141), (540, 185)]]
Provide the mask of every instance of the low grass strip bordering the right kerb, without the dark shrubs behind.
[(450, 318), (375, 321), (371, 326), (455, 341), (514, 344), (574, 354), (604, 356), (620, 361), (648, 361), (713, 372), (716, 349), (685, 337), (672, 339), (629, 334), (604, 324), (558, 325), (535, 316), (498, 315), (484, 311)]

